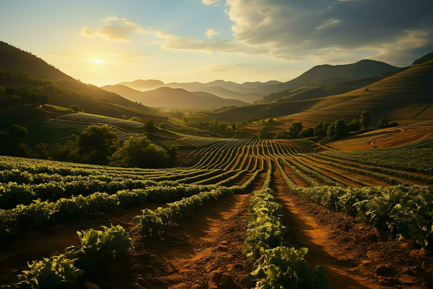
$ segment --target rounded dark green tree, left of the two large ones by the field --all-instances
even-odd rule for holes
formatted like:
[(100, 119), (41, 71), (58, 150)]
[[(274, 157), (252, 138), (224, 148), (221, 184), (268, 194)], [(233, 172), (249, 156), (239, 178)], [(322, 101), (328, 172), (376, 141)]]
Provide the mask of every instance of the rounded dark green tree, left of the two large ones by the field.
[(78, 136), (78, 151), (85, 162), (106, 165), (108, 157), (119, 147), (112, 127), (96, 124), (87, 127)]

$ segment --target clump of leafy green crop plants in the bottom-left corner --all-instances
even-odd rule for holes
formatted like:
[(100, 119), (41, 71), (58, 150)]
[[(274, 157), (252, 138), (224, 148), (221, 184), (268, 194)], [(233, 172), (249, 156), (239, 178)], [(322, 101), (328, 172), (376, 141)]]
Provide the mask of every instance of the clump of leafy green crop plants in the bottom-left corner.
[(132, 247), (131, 238), (121, 226), (77, 233), (79, 245), (66, 248), (59, 256), (28, 262), (29, 270), (19, 276), (21, 281), (7, 287), (76, 288), (84, 280), (91, 281), (100, 271), (113, 271), (115, 263), (124, 263)]

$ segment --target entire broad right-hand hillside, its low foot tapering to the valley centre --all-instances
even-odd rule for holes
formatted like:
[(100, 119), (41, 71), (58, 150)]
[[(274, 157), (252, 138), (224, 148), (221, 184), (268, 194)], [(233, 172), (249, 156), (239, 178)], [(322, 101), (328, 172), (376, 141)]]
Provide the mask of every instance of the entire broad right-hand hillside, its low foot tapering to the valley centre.
[[(267, 104), (223, 110), (209, 117), (225, 120), (245, 120), (260, 116), (288, 116), (297, 120), (334, 121), (341, 117), (351, 120), (362, 110), (370, 110), (372, 123), (382, 117), (392, 120), (427, 120), (433, 115), (433, 60), (412, 65), (407, 70), (372, 82), (343, 82), (312, 91), (290, 94)], [(366, 82), (364, 86), (359, 86)], [(370, 82), (368, 84), (368, 82)], [(343, 90), (343, 91), (342, 91)], [(336, 94), (334, 94), (336, 92)], [(333, 95), (327, 95), (333, 93)]]

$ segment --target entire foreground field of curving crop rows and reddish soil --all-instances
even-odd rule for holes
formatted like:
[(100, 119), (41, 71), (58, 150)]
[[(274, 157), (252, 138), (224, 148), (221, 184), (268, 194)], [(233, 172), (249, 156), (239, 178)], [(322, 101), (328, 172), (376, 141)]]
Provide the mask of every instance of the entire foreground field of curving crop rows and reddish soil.
[[(184, 168), (1, 156), (0, 263), (7, 266), (0, 266), (0, 283), (429, 286), (429, 268), (419, 264), (432, 261), (423, 253), (433, 237), (426, 230), (433, 225), (430, 140), (394, 149), (395, 165), (380, 150), (314, 153), (289, 140), (180, 141), (194, 147)], [(412, 165), (426, 154), (430, 159)], [(29, 271), (19, 281), (23, 270)]]

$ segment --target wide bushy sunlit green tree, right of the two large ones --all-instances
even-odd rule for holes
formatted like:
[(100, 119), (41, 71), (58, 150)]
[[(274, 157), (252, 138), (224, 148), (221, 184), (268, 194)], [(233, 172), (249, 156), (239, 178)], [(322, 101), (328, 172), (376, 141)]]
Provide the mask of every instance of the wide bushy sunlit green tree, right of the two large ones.
[(156, 146), (144, 135), (134, 134), (111, 157), (111, 166), (135, 168), (165, 168), (170, 157), (165, 149)]

